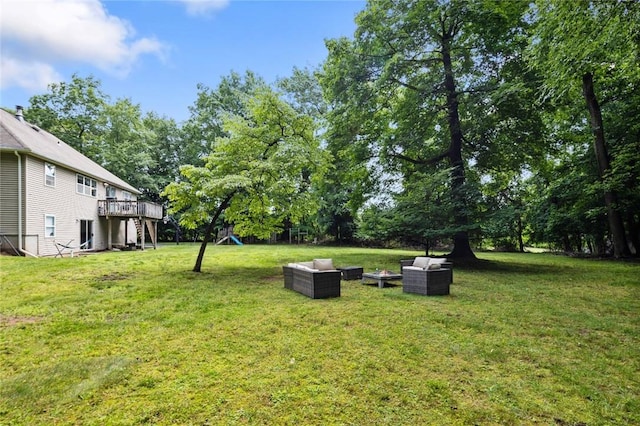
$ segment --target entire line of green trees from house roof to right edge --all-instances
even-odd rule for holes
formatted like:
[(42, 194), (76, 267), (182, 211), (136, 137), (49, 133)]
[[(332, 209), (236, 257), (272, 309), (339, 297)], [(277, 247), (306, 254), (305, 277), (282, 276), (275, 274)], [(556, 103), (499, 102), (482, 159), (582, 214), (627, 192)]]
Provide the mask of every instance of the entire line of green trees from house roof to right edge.
[(379, 0), (315, 72), (231, 73), (184, 123), (74, 76), (27, 118), (168, 202), (204, 244), (219, 220), (352, 242), (617, 257), (640, 247), (640, 4)]

